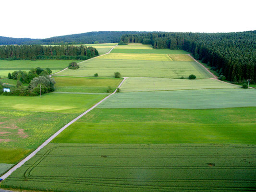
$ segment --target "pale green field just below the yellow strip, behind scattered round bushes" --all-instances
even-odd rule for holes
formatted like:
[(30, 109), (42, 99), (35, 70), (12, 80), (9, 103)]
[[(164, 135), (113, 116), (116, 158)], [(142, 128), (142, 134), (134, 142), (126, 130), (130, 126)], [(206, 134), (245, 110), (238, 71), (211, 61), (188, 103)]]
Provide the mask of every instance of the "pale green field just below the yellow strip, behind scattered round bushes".
[(81, 62), (79, 66), (77, 70), (67, 69), (58, 75), (92, 77), (98, 73), (100, 77), (113, 77), (114, 72), (120, 72), (122, 77), (188, 78), (190, 74), (199, 79), (213, 77), (201, 65), (188, 61), (111, 60), (99, 57)]

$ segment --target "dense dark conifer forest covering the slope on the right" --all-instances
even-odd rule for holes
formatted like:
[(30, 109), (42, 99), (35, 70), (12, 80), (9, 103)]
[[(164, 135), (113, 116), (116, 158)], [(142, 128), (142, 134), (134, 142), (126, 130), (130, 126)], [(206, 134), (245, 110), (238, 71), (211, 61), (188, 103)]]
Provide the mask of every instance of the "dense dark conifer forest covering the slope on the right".
[(144, 33), (122, 35), (124, 43), (183, 49), (232, 82), (256, 80), (256, 31), (238, 33)]

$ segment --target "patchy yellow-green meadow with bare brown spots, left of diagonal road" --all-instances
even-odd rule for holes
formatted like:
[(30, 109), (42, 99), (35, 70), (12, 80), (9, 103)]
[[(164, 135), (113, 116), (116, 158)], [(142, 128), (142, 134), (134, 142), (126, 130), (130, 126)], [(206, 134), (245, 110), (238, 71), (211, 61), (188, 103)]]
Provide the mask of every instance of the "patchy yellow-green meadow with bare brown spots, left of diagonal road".
[(0, 96), (0, 163), (14, 164), (105, 95)]

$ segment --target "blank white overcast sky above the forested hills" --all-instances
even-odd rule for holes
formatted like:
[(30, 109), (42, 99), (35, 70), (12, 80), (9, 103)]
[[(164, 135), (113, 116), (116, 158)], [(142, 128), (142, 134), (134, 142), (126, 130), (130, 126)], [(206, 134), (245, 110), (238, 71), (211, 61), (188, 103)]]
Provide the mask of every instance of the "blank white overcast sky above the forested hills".
[(256, 30), (256, 0), (0, 0), (0, 36)]

